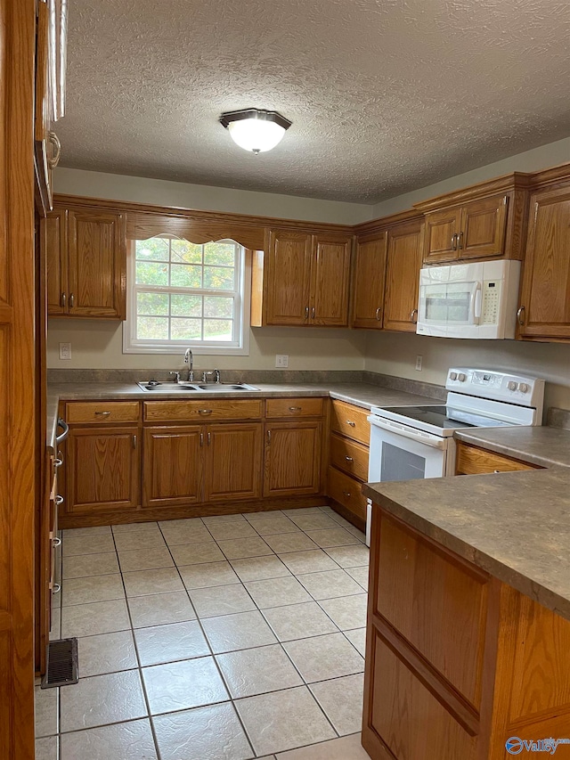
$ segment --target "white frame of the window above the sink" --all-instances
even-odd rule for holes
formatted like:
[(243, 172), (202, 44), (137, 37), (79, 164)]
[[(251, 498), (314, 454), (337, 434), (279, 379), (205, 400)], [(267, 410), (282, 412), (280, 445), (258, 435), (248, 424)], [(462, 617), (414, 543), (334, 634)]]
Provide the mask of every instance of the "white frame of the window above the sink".
[[(162, 234), (153, 237), (164, 237), (180, 240), (176, 235)], [(232, 242), (229, 238), (210, 242)], [(232, 292), (235, 298), (234, 339), (232, 341), (202, 340), (151, 340), (137, 339), (136, 330), (136, 277), (135, 277), (135, 247), (137, 241), (127, 241), (126, 249), (126, 321), (123, 323), (123, 354), (170, 354), (178, 355), (184, 348), (191, 348), (195, 355), (210, 356), (248, 356), (249, 355), (249, 312), (251, 308), (251, 252), (240, 243), (238, 245), (238, 265), (236, 275), (238, 288)], [(173, 288), (168, 285), (151, 286), (154, 292), (192, 293), (191, 289)], [(146, 290), (146, 289), (144, 289)], [(199, 295), (207, 294), (207, 289), (200, 289)], [(216, 295), (222, 291), (212, 290)], [(234, 295), (235, 293), (235, 295)], [(229, 293), (227, 294), (229, 295)]]

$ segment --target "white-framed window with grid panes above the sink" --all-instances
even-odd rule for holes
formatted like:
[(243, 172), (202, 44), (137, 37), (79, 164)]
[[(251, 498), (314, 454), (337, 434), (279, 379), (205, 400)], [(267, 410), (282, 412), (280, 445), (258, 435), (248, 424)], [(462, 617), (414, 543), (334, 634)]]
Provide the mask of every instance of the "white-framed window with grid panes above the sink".
[(245, 270), (245, 249), (235, 241), (133, 241), (124, 353), (247, 354)]

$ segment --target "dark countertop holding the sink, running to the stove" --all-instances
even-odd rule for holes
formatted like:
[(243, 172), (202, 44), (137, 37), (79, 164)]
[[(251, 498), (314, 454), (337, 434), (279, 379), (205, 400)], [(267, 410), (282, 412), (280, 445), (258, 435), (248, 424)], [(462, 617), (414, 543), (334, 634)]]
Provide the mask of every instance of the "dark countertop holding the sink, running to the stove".
[(370, 383), (282, 383), (269, 385), (255, 383), (256, 391), (227, 391), (220, 393), (173, 391), (172, 393), (153, 393), (142, 390), (134, 382), (77, 382), (50, 383), (47, 388), (47, 442), (53, 445), (53, 431), (57, 421), (57, 410), (60, 401), (172, 401), (173, 399), (191, 398), (258, 398), (258, 397), (288, 397), (288, 396), (331, 396), (348, 404), (362, 406), (407, 406), (419, 404), (442, 404), (430, 396), (417, 396), (403, 390), (383, 388)]

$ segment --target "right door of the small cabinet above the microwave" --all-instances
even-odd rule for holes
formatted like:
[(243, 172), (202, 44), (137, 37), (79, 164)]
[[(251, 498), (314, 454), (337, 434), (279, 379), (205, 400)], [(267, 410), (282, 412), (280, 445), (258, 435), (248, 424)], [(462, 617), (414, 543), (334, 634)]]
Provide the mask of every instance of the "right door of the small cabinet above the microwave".
[(506, 195), (474, 200), (461, 208), (457, 248), (460, 258), (505, 255)]

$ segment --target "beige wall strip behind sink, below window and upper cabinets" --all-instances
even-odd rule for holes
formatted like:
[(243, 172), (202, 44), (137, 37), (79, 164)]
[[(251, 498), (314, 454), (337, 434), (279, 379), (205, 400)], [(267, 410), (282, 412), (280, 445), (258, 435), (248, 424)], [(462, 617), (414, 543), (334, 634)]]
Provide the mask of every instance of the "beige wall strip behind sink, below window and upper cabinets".
[[(71, 360), (59, 359), (59, 343), (71, 343)], [(264, 327), (249, 335), (248, 356), (200, 356), (194, 366), (212, 369), (274, 369), (275, 354), (289, 354), (291, 370), (362, 370), (366, 336), (362, 331), (325, 328)], [(183, 355), (123, 354), (123, 331), (117, 323), (51, 319), (47, 365), (60, 369), (172, 369)]]

